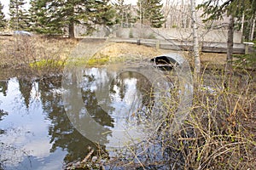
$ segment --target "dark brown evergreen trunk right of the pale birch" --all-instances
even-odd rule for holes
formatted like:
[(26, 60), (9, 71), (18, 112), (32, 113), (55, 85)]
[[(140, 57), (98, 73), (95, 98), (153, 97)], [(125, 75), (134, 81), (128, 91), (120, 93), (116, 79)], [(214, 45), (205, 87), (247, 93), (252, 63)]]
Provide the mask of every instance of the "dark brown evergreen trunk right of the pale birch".
[(234, 16), (230, 15), (228, 42), (227, 42), (227, 63), (226, 63), (226, 71), (229, 71), (229, 72), (232, 72), (234, 24), (235, 24)]

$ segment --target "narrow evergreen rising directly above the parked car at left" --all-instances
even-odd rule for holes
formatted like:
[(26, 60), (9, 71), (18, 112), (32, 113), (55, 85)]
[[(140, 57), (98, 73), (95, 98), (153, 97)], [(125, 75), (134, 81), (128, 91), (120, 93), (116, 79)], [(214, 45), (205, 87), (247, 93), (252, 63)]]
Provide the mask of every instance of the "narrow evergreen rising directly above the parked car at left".
[(23, 8), (25, 0), (10, 0), (9, 1), (9, 26), (14, 30), (27, 30), (28, 15)]

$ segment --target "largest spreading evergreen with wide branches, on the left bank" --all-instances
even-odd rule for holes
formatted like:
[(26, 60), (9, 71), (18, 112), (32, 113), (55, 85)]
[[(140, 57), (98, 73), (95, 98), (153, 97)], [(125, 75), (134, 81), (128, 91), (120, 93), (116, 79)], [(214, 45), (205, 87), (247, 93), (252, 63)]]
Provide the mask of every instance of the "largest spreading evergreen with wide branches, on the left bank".
[(75, 25), (111, 25), (113, 10), (109, 0), (32, 0), (30, 14), (33, 30), (40, 33), (63, 34), (74, 37)]

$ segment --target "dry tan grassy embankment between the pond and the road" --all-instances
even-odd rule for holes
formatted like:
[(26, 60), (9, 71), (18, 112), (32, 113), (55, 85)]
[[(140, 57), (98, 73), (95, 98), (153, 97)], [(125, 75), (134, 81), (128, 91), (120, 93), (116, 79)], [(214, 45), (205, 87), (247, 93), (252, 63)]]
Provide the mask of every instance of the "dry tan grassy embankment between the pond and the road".
[[(0, 36), (0, 65), (8, 65), (19, 62), (22, 56), (25, 59), (44, 59), (45, 57), (54, 57), (58, 59), (67, 59), (69, 54), (79, 45), (81, 40), (67, 38), (44, 38), (44, 37), (3, 37)], [(185, 51), (163, 50), (143, 45), (131, 43), (107, 42), (105, 48), (97, 48), (99, 41), (86, 40), (93, 45), (91, 47), (99, 54), (108, 55), (111, 58), (119, 56), (130, 56), (131, 58), (147, 59), (160, 54), (179, 53), (183, 54), (190, 63), (193, 63), (193, 55)], [(106, 43), (106, 42), (105, 42)], [(201, 53), (201, 63), (224, 65), (225, 54)], [(15, 63), (16, 63), (15, 62)]]

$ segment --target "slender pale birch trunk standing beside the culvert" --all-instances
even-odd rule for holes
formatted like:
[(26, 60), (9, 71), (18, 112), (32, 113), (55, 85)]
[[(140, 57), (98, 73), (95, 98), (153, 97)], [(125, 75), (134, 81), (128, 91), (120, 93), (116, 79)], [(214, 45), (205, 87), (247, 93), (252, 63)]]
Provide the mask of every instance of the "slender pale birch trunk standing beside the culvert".
[(190, 3), (191, 3), (191, 12), (192, 12), (193, 52), (194, 52), (194, 62), (195, 62), (194, 78), (195, 78), (195, 81), (197, 81), (197, 78), (201, 70), (201, 61), (200, 61), (200, 55), (199, 55), (199, 42), (198, 42), (198, 35), (197, 35), (195, 0), (190, 0)]

